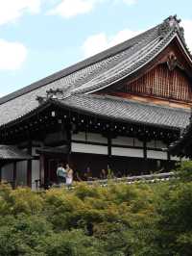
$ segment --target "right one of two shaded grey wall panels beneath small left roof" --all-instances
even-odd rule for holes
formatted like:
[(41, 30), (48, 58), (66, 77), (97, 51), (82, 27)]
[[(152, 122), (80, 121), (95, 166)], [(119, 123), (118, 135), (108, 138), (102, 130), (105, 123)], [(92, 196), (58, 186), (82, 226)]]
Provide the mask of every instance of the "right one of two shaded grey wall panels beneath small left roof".
[(27, 161), (16, 163), (16, 184), (27, 186)]

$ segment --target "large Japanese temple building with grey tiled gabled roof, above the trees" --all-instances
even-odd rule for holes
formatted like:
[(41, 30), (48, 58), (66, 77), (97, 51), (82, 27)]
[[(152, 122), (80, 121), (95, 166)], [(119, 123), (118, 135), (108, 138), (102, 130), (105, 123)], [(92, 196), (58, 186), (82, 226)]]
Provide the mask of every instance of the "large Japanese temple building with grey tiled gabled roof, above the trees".
[(189, 124), (192, 56), (177, 16), (0, 99), (0, 179), (36, 187), (60, 162), (95, 177), (165, 171)]

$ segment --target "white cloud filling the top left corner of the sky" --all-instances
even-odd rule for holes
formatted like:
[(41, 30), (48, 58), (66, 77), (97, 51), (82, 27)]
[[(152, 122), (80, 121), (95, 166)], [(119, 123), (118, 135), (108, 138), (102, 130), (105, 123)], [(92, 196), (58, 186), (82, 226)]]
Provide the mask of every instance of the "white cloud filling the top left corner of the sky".
[(23, 13), (38, 13), (41, 0), (0, 0), (0, 25), (15, 21)]

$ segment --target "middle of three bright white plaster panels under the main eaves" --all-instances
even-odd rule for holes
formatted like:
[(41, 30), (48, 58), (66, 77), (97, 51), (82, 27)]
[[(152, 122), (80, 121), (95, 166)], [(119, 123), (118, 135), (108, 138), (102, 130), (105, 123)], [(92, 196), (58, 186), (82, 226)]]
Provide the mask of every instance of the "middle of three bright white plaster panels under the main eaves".
[(138, 158), (144, 157), (143, 149), (137, 149), (137, 148), (112, 147), (111, 153), (113, 156), (138, 157)]

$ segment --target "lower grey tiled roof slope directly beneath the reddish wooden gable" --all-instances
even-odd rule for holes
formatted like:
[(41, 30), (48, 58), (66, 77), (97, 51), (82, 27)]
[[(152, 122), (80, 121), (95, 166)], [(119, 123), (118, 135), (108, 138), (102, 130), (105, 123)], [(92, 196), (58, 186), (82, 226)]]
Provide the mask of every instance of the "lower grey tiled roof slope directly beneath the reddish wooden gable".
[(57, 102), (67, 108), (112, 120), (183, 129), (190, 112), (113, 96), (75, 95)]

